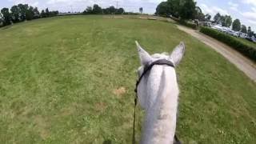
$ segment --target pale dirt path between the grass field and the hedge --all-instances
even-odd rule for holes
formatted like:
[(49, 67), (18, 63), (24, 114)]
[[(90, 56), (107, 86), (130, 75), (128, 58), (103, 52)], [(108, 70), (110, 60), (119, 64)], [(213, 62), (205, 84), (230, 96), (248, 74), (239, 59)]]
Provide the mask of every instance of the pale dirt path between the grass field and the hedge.
[(185, 31), (187, 34), (192, 35), (194, 38), (198, 38), (201, 42), (210, 46), (216, 50), (219, 54), (222, 54), (226, 59), (232, 62), (239, 70), (242, 70), (249, 78), (256, 82), (256, 63), (250, 61), (236, 50), (222, 42), (218, 42), (214, 38), (210, 38), (206, 34), (202, 34), (197, 30), (192, 30), (185, 26), (178, 26), (179, 30)]

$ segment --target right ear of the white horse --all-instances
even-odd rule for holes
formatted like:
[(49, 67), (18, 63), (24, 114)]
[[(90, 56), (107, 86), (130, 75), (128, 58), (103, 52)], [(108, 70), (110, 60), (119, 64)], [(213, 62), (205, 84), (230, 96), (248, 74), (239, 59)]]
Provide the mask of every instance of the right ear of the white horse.
[(174, 66), (178, 66), (179, 62), (181, 62), (182, 60), (184, 53), (185, 44), (184, 42), (180, 42), (180, 44), (176, 46), (173, 52), (170, 54), (170, 59), (174, 62)]

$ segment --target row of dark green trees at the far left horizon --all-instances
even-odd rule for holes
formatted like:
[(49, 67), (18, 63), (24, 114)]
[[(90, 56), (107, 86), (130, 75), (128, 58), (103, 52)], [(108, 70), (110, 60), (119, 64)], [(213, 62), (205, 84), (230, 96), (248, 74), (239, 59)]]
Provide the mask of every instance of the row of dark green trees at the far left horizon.
[(0, 23), (3, 23), (3, 26), (10, 25), (12, 23), (30, 21), (37, 18), (47, 18), (58, 15), (58, 11), (49, 11), (42, 10), (39, 13), (37, 7), (29, 6), (28, 4), (18, 4), (10, 8), (2, 8), (0, 13)]

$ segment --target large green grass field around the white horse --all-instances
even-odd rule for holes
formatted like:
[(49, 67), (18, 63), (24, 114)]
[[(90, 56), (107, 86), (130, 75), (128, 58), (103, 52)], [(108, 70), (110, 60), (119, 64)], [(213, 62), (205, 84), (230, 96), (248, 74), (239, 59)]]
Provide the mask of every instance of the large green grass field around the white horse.
[(135, 40), (151, 54), (186, 43), (177, 70), (183, 143), (256, 142), (256, 84), (172, 23), (69, 16), (0, 34), (0, 142), (130, 143)]

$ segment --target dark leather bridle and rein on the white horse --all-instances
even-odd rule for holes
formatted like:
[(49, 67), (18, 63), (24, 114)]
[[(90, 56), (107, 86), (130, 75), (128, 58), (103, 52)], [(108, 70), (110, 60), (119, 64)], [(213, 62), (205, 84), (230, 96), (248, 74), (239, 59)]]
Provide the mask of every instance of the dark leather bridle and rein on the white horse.
[[(166, 65), (166, 66), (171, 66), (171, 67), (174, 67), (174, 63), (173, 62), (170, 62), (166, 59), (160, 59), (160, 60), (157, 60), (155, 62), (152, 62), (152, 63), (148, 63), (145, 67), (144, 67), (144, 70), (142, 72), (142, 75), (138, 78), (138, 81), (136, 82), (136, 87), (135, 87), (135, 97), (134, 97), (134, 132), (133, 132), (133, 144), (135, 144), (135, 120), (136, 120), (136, 106), (137, 106), (137, 100), (138, 100), (138, 85), (139, 83), (142, 81), (142, 78), (144, 77), (144, 75), (150, 71), (152, 69), (152, 67), (154, 65)], [(174, 140), (175, 142), (174, 143), (177, 143), (177, 144), (181, 144), (182, 142), (180, 142), (178, 140), (178, 137), (176, 136), (176, 134), (174, 135)]]

